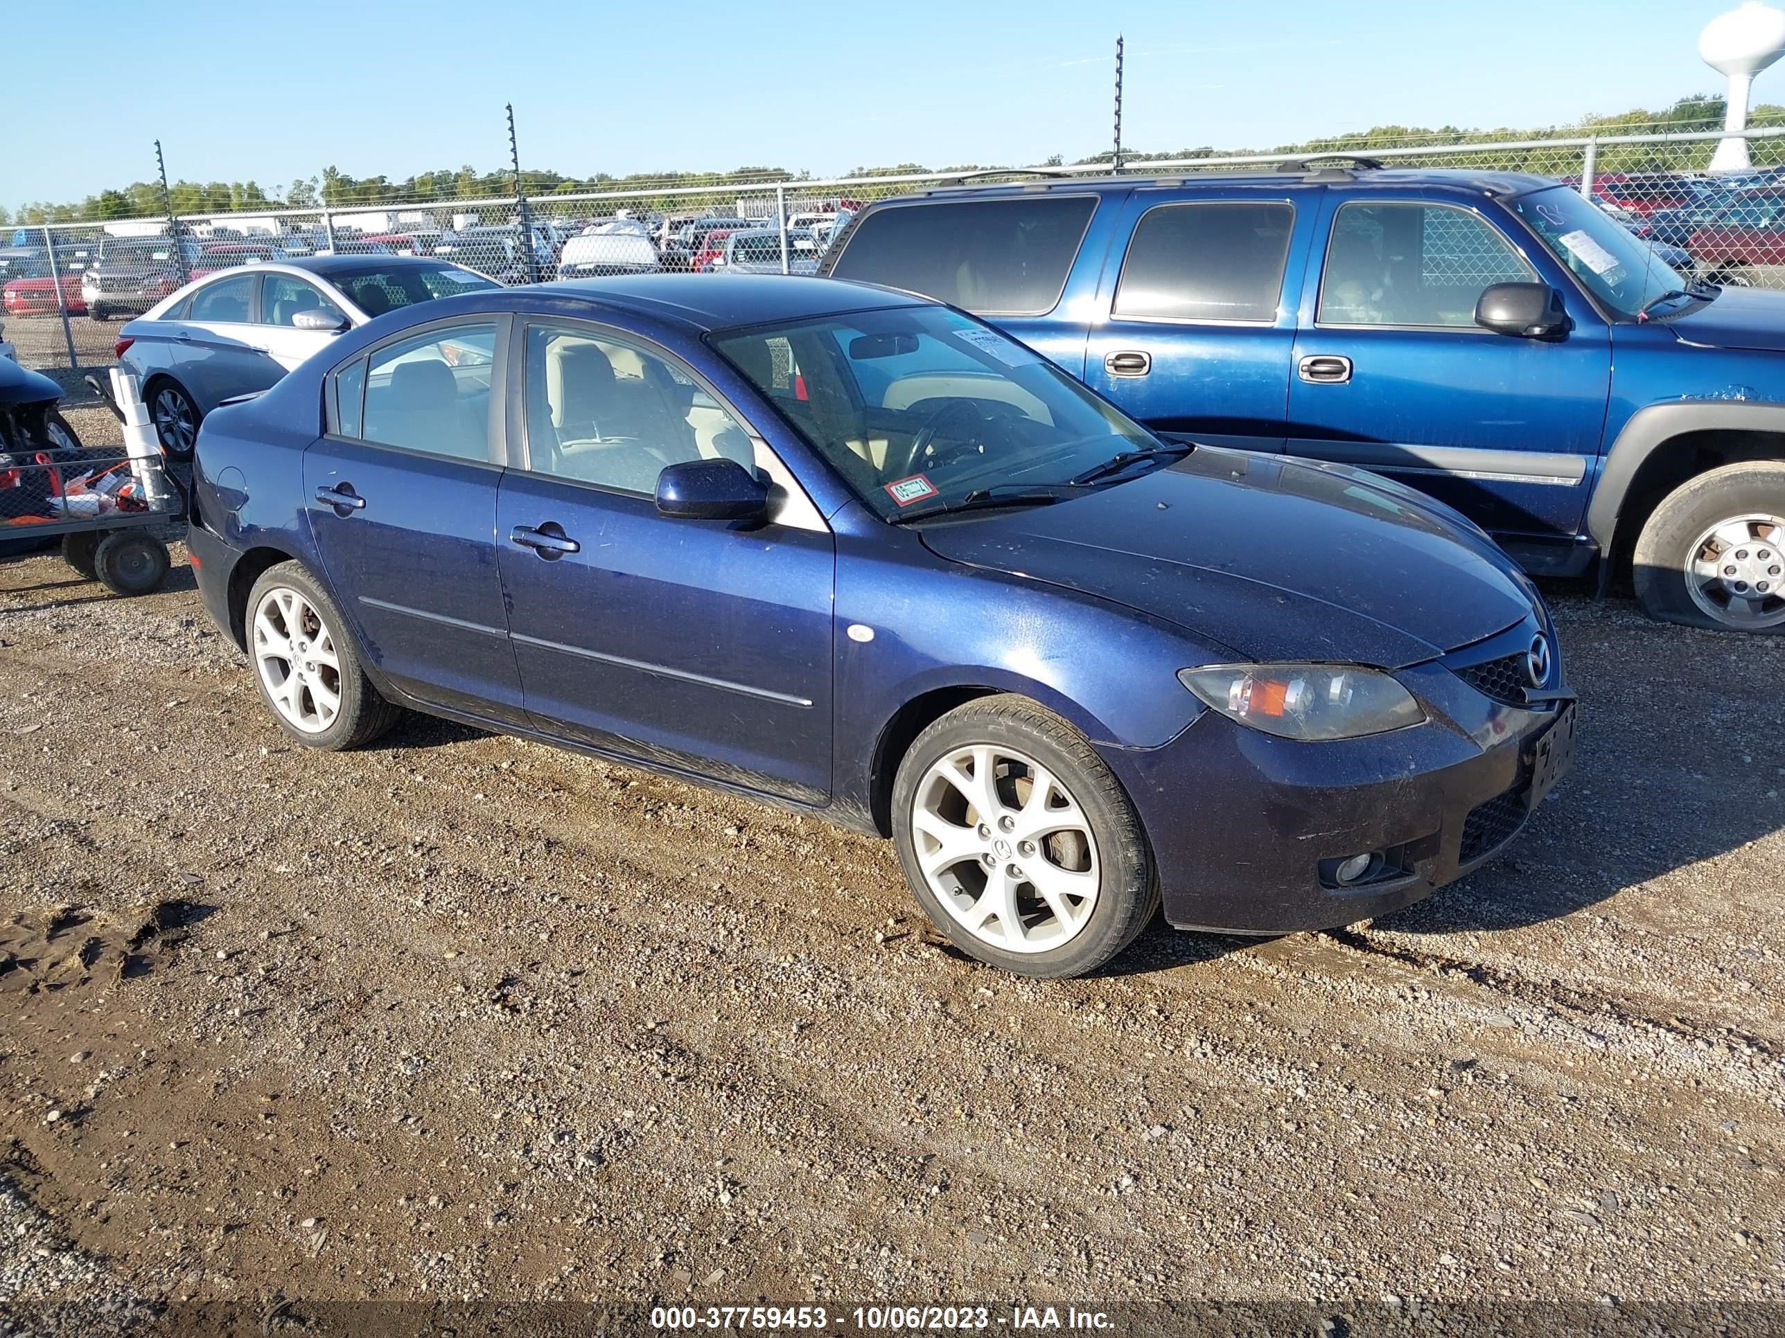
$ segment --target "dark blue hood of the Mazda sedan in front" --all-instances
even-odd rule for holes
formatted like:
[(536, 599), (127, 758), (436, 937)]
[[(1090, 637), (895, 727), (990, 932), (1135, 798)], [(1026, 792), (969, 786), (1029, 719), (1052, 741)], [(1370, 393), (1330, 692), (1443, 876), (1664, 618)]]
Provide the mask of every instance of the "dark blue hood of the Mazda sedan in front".
[(1399, 669), (1533, 608), (1512, 560), (1439, 503), (1358, 469), (1208, 446), (1071, 501), (930, 523), (923, 539), (1248, 660)]

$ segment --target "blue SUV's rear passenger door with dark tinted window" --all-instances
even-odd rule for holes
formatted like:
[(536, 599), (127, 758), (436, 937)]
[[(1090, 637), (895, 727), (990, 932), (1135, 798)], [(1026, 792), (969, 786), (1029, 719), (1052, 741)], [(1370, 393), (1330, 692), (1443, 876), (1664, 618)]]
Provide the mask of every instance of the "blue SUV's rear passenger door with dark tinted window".
[(1135, 191), (1103, 268), (1085, 384), (1153, 432), (1282, 450), (1323, 189)]

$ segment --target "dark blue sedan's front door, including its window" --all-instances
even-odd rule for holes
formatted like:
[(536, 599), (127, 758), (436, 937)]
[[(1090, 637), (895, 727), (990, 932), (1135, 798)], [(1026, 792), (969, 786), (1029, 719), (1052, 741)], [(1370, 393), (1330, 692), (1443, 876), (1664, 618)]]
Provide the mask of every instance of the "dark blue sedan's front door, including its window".
[(496, 535), (527, 710), (612, 753), (805, 803), (830, 794), (835, 544), (659, 516), (666, 464), (757, 466), (753, 434), (662, 350), (528, 325), (527, 471)]

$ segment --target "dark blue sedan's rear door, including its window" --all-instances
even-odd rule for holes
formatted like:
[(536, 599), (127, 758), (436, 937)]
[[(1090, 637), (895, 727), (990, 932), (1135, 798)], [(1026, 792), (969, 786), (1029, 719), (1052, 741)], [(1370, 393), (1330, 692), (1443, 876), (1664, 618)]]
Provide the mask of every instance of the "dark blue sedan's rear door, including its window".
[(525, 723), (496, 567), (498, 332), (432, 326), (337, 371), (334, 432), (303, 453), (303, 496), (373, 665), (419, 701)]

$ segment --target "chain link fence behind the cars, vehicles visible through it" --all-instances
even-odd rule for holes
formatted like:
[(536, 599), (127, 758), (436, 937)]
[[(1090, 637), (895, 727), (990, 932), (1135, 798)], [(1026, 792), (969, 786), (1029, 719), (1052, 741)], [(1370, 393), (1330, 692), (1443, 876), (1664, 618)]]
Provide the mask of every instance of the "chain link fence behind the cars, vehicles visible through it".
[[(1785, 127), (1746, 132), (1753, 168), (1710, 173), (1721, 132), (1374, 143), (1301, 153), (1128, 159), (1125, 177), (1271, 169), (1321, 155), (1394, 168), (1526, 171), (1574, 186), (1664, 259), (1717, 284), (1785, 289)], [(523, 198), (337, 203), (230, 214), (0, 228), (4, 334), (27, 368), (73, 384), (116, 360), (118, 323), (175, 289), (253, 260), (425, 255), (502, 284), (630, 273), (816, 273), (864, 205), (959, 182), (1108, 175), (1108, 162), (573, 191)]]

